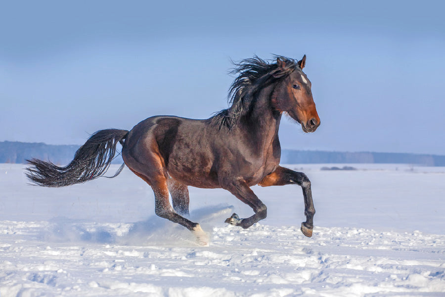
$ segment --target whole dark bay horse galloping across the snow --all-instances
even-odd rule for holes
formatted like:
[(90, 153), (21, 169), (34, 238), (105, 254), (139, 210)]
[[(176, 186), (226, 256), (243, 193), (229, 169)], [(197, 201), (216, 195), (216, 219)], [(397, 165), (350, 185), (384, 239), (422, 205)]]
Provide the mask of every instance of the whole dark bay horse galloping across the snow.
[[(275, 60), (276, 59), (276, 60)], [(254, 214), (239, 218), (233, 213), (225, 223), (249, 228), (266, 218), (267, 206), (250, 188), (297, 184), (303, 190), (306, 221), (301, 231), (312, 237), (311, 182), (306, 174), (281, 167), (278, 128), (289, 115), (304, 132), (320, 125), (312, 98), (311, 81), (301, 60), (275, 55), (233, 62), (237, 75), (228, 92), (229, 107), (208, 119), (152, 116), (131, 131), (95, 132), (64, 167), (39, 159), (27, 160), (27, 177), (46, 187), (84, 183), (103, 176), (122, 145), (124, 164), (151, 186), (155, 213), (190, 230), (200, 244), (208, 245), (199, 223), (189, 217), (188, 186), (222, 188), (252, 207)], [(170, 204), (169, 193), (172, 199)]]

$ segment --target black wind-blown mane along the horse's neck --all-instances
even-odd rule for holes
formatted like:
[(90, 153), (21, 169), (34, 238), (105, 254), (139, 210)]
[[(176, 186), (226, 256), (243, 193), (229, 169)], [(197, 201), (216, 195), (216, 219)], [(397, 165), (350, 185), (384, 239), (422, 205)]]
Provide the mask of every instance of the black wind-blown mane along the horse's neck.
[[(253, 58), (241, 60), (239, 62), (232, 61), (234, 68), (230, 70), (230, 74), (238, 75), (229, 88), (227, 95), (230, 107), (223, 109), (210, 118), (213, 125), (219, 129), (226, 127), (229, 131), (236, 127), (239, 117), (243, 111), (243, 104), (248, 94), (255, 94), (257, 91), (265, 87), (265, 83), (270, 78), (280, 79), (289, 75), (298, 66), (296, 60), (275, 55), (273, 60), (263, 60), (255, 55)], [(286, 63), (286, 67), (279, 68), (276, 59)], [(272, 63), (272, 61), (275, 61)]]

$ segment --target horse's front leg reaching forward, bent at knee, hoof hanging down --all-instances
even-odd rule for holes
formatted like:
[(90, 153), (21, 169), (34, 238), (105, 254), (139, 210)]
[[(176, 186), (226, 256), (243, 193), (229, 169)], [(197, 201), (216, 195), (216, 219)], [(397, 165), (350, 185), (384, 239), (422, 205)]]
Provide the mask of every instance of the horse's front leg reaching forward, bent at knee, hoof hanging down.
[(312, 201), (311, 181), (306, 176), (306, 174), (278, 166), (275, 171), (268, 174), (259, 183), (259, 185), (262, 187), (284, 186), (289, 184), (297, 184), (303, 189), (303, 197), (305, 199), (306, 222), (301, 223), (301, 232), (303, 232), (303, 234), (307, 237), (311, 237), (315, 208), (313, 207)]

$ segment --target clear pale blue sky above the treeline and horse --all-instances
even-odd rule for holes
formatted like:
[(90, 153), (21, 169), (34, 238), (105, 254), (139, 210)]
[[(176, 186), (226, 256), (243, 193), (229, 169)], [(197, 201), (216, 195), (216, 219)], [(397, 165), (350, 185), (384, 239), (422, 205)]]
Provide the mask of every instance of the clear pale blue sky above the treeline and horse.
[(83, 144), (227, 107), (230, 58), (301, 58), (321, 126), (283, 148), (445, 154), (442, 1), (10, 1), (0, 141)]

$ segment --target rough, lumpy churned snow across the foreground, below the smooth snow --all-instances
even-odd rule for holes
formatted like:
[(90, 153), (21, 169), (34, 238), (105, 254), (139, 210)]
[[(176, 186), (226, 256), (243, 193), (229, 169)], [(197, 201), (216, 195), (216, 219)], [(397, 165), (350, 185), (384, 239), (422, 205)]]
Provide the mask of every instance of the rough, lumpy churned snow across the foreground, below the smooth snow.
[[(229, 211), (226, 212), (229, 214)], [(68, 223), (69, 224), (69, 223)], [(128, 226), (83, 225), (112, 244), (43, 242), (48, 222), (2, 222), (0, 293), (8, 296), (443, 296), (444, 235), (256, 224), (214, 227), (211, 247), (162, 228), (122, 245)], [(57, 227), (56, 227), (57, 228)], [(44, 232), (45, 233), (45, 232)], [(162, 242), (161, 234), (166, 240)], [(10, 235), (10, 236), (8, 236)], [(10, 239), (9, 241), (5, 239)], [(157, 241), (160, 242), (157, 242)]]

